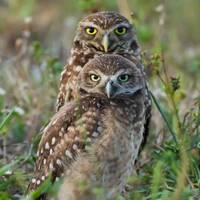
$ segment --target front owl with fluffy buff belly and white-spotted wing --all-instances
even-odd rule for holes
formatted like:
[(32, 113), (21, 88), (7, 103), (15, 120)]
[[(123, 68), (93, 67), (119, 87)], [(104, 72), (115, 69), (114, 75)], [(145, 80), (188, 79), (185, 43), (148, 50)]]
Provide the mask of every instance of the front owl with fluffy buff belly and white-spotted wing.
[(63, 176), (60, 200), (95, 200), (93, 187), (102, 188), (104, 200), (124, 190), (145, 139), (146, 86), (139, 64), (102, 55), (83, 67), (77, 98), (43, 130), (29, 191), (50, 174), (52, 182)]

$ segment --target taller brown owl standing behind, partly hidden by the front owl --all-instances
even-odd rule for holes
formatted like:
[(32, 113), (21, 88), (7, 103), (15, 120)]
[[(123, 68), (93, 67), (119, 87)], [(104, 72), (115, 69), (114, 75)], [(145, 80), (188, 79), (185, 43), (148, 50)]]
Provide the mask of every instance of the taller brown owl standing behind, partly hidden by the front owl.
[(116, 12), (99, 12), (78, 25), (68, 64), (60, 78), (57, 110), (74, 98), (74, 86), (81, 68), (99, 54), (140, 56), (136, 33), (129, 21)]

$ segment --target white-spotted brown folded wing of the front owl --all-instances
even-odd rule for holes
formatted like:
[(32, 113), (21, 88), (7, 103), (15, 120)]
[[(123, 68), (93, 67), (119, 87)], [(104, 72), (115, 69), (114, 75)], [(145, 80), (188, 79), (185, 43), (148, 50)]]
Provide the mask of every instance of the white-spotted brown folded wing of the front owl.
[(28, 191), (39, 187), (49, 175), (54, 182), (71, 166), (77, 155), (85, 151), (87, 139), (93, 137), (98, 128), (98, 113), (91, 109), (81, 110), (81, 102), (71, 102), (51, 119), (43, 130)]

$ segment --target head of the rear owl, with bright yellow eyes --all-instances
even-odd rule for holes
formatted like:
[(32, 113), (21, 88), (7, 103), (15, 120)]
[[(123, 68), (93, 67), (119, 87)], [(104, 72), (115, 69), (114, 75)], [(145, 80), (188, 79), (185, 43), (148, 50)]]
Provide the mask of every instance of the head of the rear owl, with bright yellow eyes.
[(140, 52), (136, 33), (129, 21), (116, 12), (98, 12), (80, 21), (75, 42), (95, 52)]

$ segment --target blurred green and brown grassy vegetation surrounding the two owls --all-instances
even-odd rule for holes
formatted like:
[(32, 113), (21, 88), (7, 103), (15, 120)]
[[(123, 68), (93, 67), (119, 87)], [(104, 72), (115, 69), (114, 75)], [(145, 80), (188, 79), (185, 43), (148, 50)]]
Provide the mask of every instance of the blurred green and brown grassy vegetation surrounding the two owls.
[(200, 199), (199, 7), (196, 0), (2, 0), (0, 200), (24, 198), (76, 24), (97, 10), (133, 12), (153, 102), (137, 173), (117, 199)]

